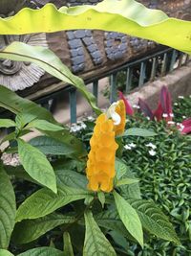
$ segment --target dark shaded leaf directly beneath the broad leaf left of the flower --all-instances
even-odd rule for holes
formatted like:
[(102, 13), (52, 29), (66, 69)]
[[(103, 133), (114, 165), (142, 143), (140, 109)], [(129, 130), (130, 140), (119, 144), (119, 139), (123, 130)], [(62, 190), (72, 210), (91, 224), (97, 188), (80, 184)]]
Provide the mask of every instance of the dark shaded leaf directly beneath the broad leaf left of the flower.
[(41, 237), (58, 225), (73, 223), (74, 221), (74, 216), (53, 213), (36, 220), (17, 222), (11, 239), (16, 244), (27, 244)]

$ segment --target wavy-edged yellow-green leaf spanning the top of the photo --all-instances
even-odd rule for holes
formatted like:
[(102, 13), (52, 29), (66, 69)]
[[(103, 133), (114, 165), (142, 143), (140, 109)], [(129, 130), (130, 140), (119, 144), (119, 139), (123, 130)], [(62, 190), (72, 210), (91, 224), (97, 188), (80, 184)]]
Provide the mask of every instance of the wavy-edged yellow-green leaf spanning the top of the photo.
[(52, 33), (91, 29), (114, 31), (157, 41), (191, 54), (191, 22), (169, 18), (134, 0), (104, 0), (96, 6), (62, 7), (47, 4), (40, 10), (23, 9), (0, 19), (1, 35)]

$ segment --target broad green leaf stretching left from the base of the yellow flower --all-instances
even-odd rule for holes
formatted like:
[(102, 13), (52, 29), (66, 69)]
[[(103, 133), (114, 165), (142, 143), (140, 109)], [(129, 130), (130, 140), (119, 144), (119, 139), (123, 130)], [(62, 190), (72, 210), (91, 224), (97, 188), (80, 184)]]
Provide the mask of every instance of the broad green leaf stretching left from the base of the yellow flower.
[(66, 204), (91, 196), (87, 190), (74, 189), (62, 183), (57, 185), (57, 195), (43, 188), (33, 193), (18, 208), (16, 221), (36, 219), (53, 213)]

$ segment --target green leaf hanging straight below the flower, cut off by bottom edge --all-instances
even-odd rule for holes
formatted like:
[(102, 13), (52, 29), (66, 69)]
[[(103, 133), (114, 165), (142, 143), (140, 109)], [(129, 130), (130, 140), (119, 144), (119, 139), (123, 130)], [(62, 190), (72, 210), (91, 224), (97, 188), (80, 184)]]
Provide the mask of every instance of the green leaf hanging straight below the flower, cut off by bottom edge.
[(116, 256), (116, 252), (106, 239), (90, 211), (85, 212), (86, 233), (83, 256)]

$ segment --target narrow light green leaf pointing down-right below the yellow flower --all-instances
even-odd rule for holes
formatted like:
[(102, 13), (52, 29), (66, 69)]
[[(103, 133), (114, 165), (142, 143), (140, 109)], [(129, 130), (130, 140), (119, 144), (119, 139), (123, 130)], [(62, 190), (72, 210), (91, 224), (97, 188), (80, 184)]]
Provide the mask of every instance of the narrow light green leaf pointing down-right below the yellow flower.
[(142, 225), (136, 210), (124, 198), (120, 197), (116, 191), (114, 191), (114, 198), (121, 221), (124, 223), (128, 232), (138, 241), (141, 247), (143, 247)]

